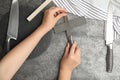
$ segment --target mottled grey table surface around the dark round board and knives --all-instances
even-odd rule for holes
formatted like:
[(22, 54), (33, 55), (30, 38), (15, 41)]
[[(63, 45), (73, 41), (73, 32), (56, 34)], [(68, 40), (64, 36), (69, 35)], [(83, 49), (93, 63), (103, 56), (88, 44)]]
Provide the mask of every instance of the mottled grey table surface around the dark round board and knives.
[[(19, 0), (37, 8), (41, 0)], [(10, 9), (11, 0), (0, 0), (0, 19)], [(53, 4), (50, 4), (52, 6)], [(77, 16), (69, 14), (69, 19)], [(72, 80), (120, 80), (120, 40), (113, 43), (114, 67), (106, 72), (106, 46), (104, 41), (104, 21), (86, 19), (83, 26), (72, 29), (73, 39), (81, 48), (81, 64), (74, 69)], [(59, 21), (59, 23), (62, 22)], [(52, 34), (49, 48), (34, 59), (27, 60), (12, 80), (57, 80), (59, 63), (67, 43), (65, 33)]]

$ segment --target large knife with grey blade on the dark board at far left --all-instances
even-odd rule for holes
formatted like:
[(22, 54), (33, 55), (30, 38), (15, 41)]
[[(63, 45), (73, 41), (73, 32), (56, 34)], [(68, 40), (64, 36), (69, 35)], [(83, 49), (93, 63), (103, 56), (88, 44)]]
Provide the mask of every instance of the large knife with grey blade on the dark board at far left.
[(18, 26), (19, 26), (19, 2), (18, 0), (13, 0), (9, 15), (9, 23), (6, 37), (6, 51), (10, 50), (10, 40), (17, 40), (18, 36)]

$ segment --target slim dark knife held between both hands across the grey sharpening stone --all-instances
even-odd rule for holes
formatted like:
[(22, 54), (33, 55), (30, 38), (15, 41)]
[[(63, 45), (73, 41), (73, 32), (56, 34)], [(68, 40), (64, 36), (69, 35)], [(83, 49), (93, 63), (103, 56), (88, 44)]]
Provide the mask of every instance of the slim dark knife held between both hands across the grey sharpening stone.
[(71, 32), (70, 32), (70, 25), (68, 23), (68, 17), (67, 16), (64, 17), (64, 22), (65, 22), (64, 25), (67, 27), (67, 29), (65, 31), (66, 37), (67, 37), (68, 43), (70, 44), (70, 46), (72, 46), (73, 39), (72, 39), (72, 35), (71, 35)]

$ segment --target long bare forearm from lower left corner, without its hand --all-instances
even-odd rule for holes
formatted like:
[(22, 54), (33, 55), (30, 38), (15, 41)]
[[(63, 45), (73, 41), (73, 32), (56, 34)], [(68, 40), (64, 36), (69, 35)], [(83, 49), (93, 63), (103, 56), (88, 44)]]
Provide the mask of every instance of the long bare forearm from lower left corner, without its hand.
[(44, 25), (38, 27), (29, 37), (7, 53), (0, 62), (0, 78), (4, 75), (7, 79), (13, 77), (40, 39), (48, 32), (44, 27)]

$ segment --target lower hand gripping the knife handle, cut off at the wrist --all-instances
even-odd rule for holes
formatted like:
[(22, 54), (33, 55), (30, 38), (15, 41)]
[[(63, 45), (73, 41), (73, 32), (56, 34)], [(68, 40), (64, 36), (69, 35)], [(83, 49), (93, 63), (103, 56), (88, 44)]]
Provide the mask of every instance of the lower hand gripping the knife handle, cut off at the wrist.
[(67, 72), (72, 72), (72, 70), (80, 64), (80, 49), (76, 42), (70, 48), (68, 44), (61, 60), (60, 69)]

